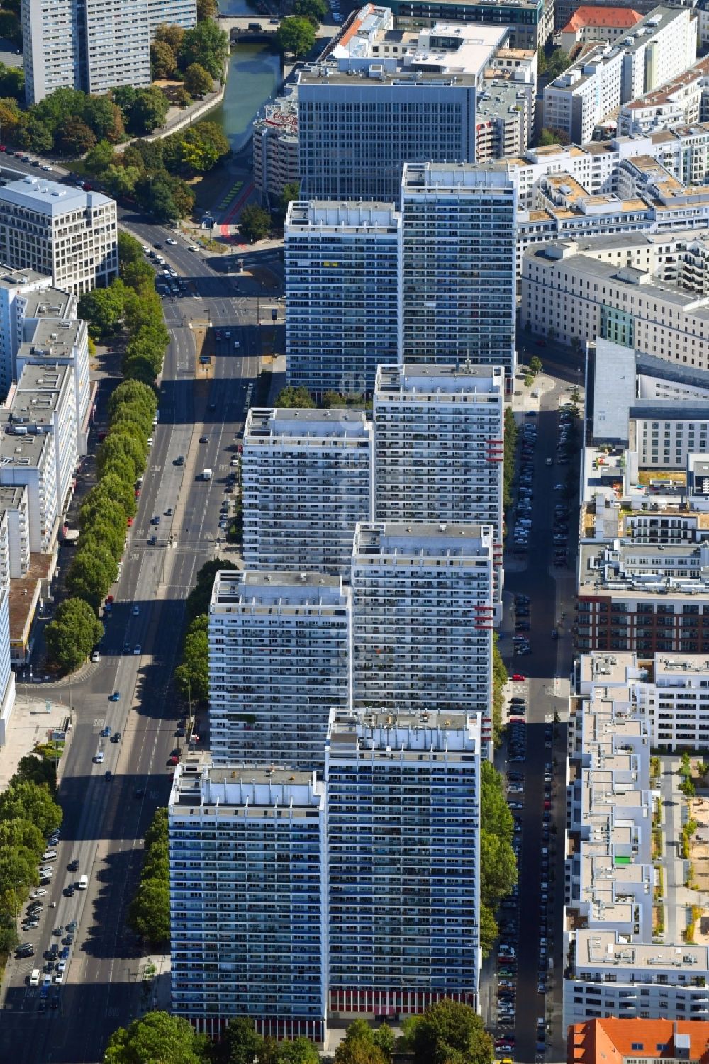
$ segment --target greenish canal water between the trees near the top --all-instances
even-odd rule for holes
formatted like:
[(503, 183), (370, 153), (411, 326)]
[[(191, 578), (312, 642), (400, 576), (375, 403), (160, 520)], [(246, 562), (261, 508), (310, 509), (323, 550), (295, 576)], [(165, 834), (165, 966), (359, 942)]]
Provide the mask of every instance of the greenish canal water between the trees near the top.
[[(220, 0), (225, 15), (253, 15), (246, 0)], [(282, 79), (281, 56), (267, 45), (236, 45), (231, 50), (224, 100), (210, 112), (210, 121), (225, 132), (233, 152), (240, 151), (251, 135), (251, 124)]]

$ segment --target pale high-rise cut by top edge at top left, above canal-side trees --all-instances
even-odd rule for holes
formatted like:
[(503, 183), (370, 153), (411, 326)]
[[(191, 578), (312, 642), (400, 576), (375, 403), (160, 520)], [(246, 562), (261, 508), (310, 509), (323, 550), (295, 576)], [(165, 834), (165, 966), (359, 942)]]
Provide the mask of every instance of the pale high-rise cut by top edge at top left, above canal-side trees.
[(196, 0), (21, 0), (24, 98), (39, 103), (56, 88), (105, 94), (150, 85), (150, 41), (161, 23), (197, 23)]

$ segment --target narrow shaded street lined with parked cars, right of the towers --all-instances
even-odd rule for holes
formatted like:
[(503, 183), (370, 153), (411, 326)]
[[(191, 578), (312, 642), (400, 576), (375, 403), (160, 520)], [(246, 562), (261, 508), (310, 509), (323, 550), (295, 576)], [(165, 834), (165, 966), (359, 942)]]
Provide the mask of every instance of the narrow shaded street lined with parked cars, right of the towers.
[[(573, 380), (573, 377), (568, 378)], [(535, 1059), (535, 1027), (537, 1018), (558, 1015), (561, 993), (561, 958), (562, 941), (562, 904), (563, 904), (563, 830), (565, 822), (565, 728), (559, 728), (553, 749), (544, 746), (544, 726), (553, 720), (557, 711), (561, 716), (566, 713), (566, 699), (555, 693), (555, 678), (566, 678), (571, 671), (572, 652), (571, 639), (551, 638), (551, 629), (558, 626), (557, 584), (553, 572), (563, 576), (573, 571), (575, 552), (575, 521), (570, 521), (570, 565), (571, 568), (551, 569), (554, 504), (557, 501), (554, 484), (563, 480), (560, 467), (545, 465), (547, 455), (554, 455), (557, 440), (557, 410), (560, 396), (567, 398), (567, 393), (557, 383), (554, 392), (542, 397), (541, 411), (534, 420), (538, 422), (538, 443), (534, 450), (532, 527), (529, 542), (528, 563), (520, 571), (513, 571), (514, 566), (506, 573), (505, 601), (506, 622), (505, 635), (500, 638), (500, 650), (510, 675), (520, 672), (526, 677), (524, 683), (512, 686), (514, 695), (528, 695), (529, 712), (527, 714), (527, 754), (524, 765), (514, 764), (509, 767), (523, 769), (525, 775), (524, 809), (520, 814), (523, 818), (522, 843), (520, 853), (520, 897), (518, 913), (520, 936), (517, 944), (517, 984), (516, 984), (516, 1024), (513, 1033), (516, 1037), (515, 1060), (534, 1061)], [(574, 514), (574, 511), (572, 512)], [(531, 611), (531, 653), (526, 656), (514, 656), (512, 653), (512, 634), (514, 624), (510, 622), (510, 605), (515, 594), (529, 596)], [(559, 602), (559, 612), (565, 610), (565, 625), (571, 625), (573, 615), (571, 594)], [(542, 816), (544, 802), (544, 770), (545, 765), (554, 766), (554, 792), (549, 843), (542, 839)], [(500, 771), (507, 770), (505, 750), (496, 759)], [(511, 796), (512, 797), (512, 796)], [(517, 797), (517, 796), (513, 796)], [(556, 839), (555, 839), (556, 835)], [(549, 883), (548, 904), (542, 905), (542, 846), (551, 848), (550, 870), (555, 874)], [(549, 934), (553, 949), (549, 957), (554, 958), (554, 970), (547, 983), (546, 997), (538, 994), (538, 968), (540, 963), (540, 931), (541, 914), (546, 908)], [(487, 966), (488, 967), (488, 966)], [(483, 1017), (492, 1017), (494, 1027), (495, 999), (494, 982), (483, 984)], [(497, 1035), (509, 1033), (510, 1029), (499, 1029)], [(547, 1059), (561, 1060), (562, 1052), (560, 1020), (551, 1025), (553, 1050), (547, 1051)]]

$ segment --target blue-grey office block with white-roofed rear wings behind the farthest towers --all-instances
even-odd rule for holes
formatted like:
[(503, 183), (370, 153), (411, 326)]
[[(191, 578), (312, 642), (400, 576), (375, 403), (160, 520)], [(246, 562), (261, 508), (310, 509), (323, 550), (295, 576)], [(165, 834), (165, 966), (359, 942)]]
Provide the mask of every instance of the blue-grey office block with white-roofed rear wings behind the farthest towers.
[(365, 4), (346, 44), (300, 72), (303, 198), (391, 202), (405, 163), (475, 161), (477, 86), (507, 27), (436, 22), (402, 43), (393, 24)]

